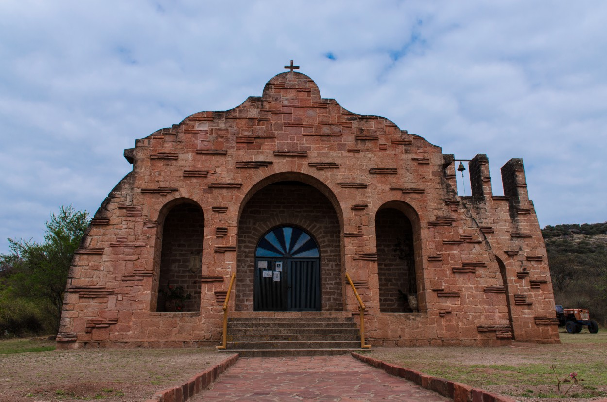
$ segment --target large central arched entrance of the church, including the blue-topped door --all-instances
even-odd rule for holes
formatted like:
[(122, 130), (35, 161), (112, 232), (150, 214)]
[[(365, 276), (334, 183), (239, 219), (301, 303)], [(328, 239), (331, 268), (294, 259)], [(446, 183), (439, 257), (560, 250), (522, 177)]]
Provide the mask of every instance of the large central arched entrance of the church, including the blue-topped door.
[(270, 177), (242, 205), (235, 310), (343, 311), (341, 225), (315, 180)]

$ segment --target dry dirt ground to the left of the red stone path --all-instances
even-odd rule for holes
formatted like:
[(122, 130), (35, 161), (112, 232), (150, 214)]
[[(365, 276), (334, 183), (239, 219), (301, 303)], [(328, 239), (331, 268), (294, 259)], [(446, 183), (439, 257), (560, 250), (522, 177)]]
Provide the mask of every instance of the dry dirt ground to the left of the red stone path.
[(0, 401), (141, 402), (227, 356), (214, 347), (0, 355)]

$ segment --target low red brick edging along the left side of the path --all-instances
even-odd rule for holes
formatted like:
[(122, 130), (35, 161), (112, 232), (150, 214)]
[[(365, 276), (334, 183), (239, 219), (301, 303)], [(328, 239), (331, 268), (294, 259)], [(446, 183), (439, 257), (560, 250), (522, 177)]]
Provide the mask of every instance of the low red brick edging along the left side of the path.
[(210, 369), (197, 373), (192, 376), (188, 381), (181, 386), (168, 388), (161, 390), (154, 394), (153, 397), (147, 399), (145, 402), (183, 402), (187, 401), (189, 397), (193, 397), (198, 392), (206, 389), (211, 383), (213, 383), (219, 375), (229, 366), (236, 363), (238, 355), (234, 354), (226, 358), (220, 363), (215, 364)]

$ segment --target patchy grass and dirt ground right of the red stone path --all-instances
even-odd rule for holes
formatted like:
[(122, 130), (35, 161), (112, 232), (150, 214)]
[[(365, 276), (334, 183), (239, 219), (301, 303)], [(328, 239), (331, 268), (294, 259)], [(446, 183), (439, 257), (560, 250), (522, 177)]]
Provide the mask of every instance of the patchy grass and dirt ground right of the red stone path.
[(577, 372), (584, 380), (575, 384), (567, 397), (607, 395), (607, 330), (596, 334), (561, 333), (560, 336), (561, 344), (514, 342), (512, 346), (503, 347), (378, 347), (371, 350), (371, 356), (473, 387), (539, 398), (558, 397), (557, 378), (551, 370), (554, 364), (561, 380), (571, 372)]

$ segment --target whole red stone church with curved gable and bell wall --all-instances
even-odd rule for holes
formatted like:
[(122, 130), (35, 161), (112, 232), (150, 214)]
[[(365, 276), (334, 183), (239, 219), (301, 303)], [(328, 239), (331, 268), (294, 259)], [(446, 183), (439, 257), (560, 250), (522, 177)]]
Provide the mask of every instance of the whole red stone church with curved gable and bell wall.
[(558, 342), (523, 160), (493, 195), (486, 155), (455, 160), (294, 68), (124, 150), (132, 172), (76, 250), (59, 347), (219, 344), (226, 298), (231, 317), (358, 322), (353, 287), (373, 345)]

